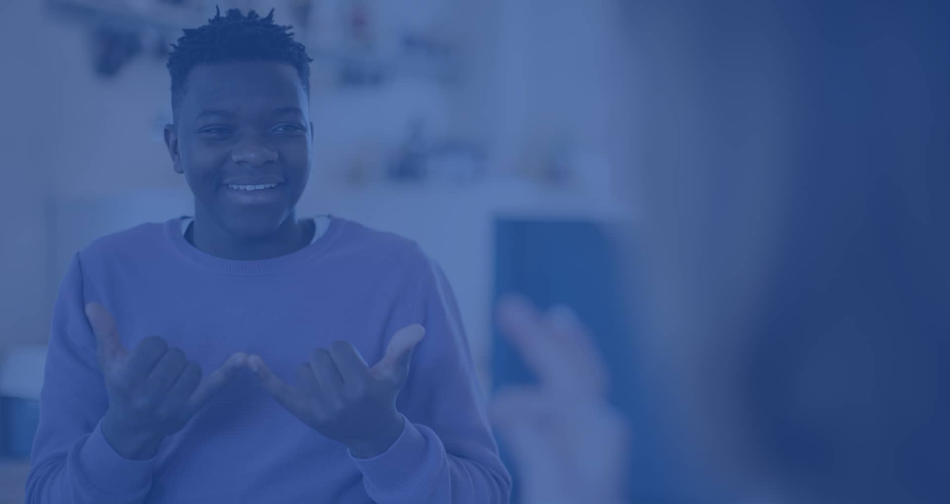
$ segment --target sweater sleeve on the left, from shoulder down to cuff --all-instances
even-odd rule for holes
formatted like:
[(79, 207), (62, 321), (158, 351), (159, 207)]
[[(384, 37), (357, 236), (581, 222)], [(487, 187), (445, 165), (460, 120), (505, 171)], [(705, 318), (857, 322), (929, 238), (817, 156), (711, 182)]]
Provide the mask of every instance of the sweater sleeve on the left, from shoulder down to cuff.
[(28, 504), (139, 504), (151, 487), (152, 460), (125, 459), (103, 437), (108, 396), (85, 297), (76, 254), (53, 311)]

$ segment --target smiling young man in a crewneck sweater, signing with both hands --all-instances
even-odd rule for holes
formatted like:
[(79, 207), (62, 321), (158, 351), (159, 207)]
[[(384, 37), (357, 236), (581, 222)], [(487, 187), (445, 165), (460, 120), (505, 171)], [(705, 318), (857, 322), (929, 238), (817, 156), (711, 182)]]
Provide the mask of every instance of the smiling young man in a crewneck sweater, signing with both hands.
[(169, 57), (195, 215), (73, 258), (28, 502), (507, 502), (442, 271), (295, 214), (313, 130), (288, 28), (218, 12)]

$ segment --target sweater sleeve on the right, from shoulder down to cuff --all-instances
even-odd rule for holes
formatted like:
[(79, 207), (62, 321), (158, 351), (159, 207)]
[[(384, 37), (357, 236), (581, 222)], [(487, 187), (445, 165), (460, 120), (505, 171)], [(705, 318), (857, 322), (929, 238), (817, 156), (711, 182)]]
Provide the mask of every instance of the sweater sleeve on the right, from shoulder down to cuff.
[(443, 271), (427, 263), (419, 306), (399, 322), (426, 327), (397, 400), (403, 433), (383, 454), (353, 461), (378, 504), (505, 504), (511, 479), (489, 428), (459, 309)]

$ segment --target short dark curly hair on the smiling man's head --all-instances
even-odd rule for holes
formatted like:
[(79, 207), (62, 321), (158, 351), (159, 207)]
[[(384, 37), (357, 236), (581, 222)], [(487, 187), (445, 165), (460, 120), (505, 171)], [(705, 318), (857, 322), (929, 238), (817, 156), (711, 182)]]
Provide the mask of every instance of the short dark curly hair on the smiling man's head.
[(188, 73), (197, 65), (229, 61), (270, 61), (293, 65), (304, 92), (310, 96), (310, 62), (307, 49), (294, 40), (290, 26), (274, 23), (274, 9), (266, 17), (254, 10), (247, 15), (229, 9), (199, 28), (184, 30), (178, 44), (168, 54), (168, 73), (172, 79), (172, 115), (178, 122)]

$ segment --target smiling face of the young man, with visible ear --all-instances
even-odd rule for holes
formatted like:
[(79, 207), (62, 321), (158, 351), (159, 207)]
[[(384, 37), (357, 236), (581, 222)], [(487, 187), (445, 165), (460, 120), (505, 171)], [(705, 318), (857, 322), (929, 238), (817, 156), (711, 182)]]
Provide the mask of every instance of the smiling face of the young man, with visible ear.
[(206, 225), (244, 238), (276, 232), (310, 176), (308, 99), (292, 65), (229, 62), (188, 74), (165, 140)]

